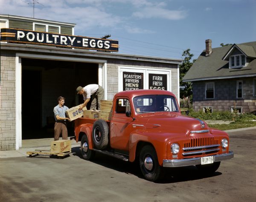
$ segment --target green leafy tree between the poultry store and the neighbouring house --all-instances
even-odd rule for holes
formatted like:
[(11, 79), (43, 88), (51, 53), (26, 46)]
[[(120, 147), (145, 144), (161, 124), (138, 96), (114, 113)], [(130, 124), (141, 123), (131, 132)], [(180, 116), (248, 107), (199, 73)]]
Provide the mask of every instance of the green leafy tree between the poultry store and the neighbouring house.
[(193, 65), (195, 60), (192, 60), (194, 54), (190, 53), (190, 49), (183, 51), (182, 56), (184, 56), (184, 61), (180, 65), (180, 98), (188, 98), (188, 108), (190, 108), (190, 98), (192, 98), (192, 82), (183, 82), (182, 79), (186, 72), (189, 71), (190, 67)]

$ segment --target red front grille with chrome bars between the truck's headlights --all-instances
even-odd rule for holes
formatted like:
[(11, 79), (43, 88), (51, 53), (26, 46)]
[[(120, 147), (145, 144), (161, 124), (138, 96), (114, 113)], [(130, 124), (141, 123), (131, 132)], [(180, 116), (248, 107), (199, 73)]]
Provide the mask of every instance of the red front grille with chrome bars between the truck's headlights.
[(214, 139), (213, 137), (194, 138), (184, 144), (182, 155), (184, 157), (190, 157), (214, 154), (220, 150), (219, 147), (218, 139)]

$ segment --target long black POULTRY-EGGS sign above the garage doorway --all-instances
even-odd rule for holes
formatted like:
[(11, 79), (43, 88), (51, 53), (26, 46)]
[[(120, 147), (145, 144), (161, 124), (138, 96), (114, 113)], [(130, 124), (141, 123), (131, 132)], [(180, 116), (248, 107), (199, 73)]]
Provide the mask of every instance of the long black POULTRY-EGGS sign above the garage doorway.
[(111, 52), (118, 52), (119, 47), (117, 40), (35, 32), (24, 29), (3, 28), (1, 29), (0, 39), (9, 43), (32, 43)]

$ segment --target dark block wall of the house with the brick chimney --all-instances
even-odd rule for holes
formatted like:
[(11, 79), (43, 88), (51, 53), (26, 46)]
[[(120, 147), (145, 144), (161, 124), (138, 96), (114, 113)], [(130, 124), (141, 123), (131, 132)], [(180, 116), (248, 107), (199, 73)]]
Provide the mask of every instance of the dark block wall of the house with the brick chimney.
[[(236, 98), (236, 81), (243, 81), (243, 98)], [(209, 81), (207, 81), (209, 82)], [(205, 98), (205, 83), (193, 82), (193, 109), (203, 110), (212, 107), (212, 111), (230, 111), (231, 107), (242, 107), (243, 113), (256, 111), (256, 97), (253, 96), (253, 78), (215, 80), (214, 99)]]

